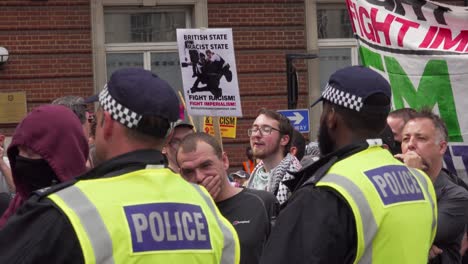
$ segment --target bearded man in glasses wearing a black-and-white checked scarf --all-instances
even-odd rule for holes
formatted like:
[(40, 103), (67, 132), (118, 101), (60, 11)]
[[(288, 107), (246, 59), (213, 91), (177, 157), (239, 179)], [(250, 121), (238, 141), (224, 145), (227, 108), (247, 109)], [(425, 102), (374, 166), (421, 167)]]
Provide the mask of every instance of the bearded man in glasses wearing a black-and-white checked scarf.
[(250, 176), (248, 188), (272, 192), (280, 204), (291, 195), (283, 182), (294, 178), (289, 172), (301, 168), (299, 160), (289, 154), (292, 133), (289, 119), (269, 109), (260, 109), (248, 130), (254, 158), (261, 160)]

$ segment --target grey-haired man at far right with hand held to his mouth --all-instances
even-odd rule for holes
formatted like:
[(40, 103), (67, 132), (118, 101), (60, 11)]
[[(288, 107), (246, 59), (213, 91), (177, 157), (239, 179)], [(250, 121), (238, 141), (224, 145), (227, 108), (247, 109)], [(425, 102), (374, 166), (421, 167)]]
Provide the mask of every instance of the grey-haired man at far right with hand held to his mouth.
[[(402, 154), (396, 155), (408, 166), (429, 175), (437, 195), (437, 234), (430, 262), (461, 263), (460, 245), (468, 223), (468, 191), (463, 182), (443, 168), (448, 132), (444, 121), (423, 109), (412, 113), (402, 132)], [(458, 183), (459, 182), (459, 183)]]

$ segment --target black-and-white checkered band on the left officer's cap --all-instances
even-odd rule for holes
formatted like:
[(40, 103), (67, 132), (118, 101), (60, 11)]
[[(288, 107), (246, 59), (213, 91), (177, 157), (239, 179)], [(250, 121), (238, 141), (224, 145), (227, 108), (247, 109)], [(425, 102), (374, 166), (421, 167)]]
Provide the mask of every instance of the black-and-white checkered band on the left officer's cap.
[(104, 86), (104, 90), (99, 93), (99, 103), (105, 111), (112, 115), (114, 120), (128, 128), (136, 127), (142, 118), (142, 115), (133, 112), (115, 101), (107, 90), (107, 85)]

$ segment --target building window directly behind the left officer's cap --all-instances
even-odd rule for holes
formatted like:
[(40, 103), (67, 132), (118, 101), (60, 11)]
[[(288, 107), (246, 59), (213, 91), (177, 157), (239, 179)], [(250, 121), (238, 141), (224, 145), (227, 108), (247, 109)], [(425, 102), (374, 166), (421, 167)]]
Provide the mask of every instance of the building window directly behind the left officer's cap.
[(189, 7), (105, 7), (107, 78), (120, 68), (141, 67), (183, 92), (176, 29), (191, 27), (191, 13)]

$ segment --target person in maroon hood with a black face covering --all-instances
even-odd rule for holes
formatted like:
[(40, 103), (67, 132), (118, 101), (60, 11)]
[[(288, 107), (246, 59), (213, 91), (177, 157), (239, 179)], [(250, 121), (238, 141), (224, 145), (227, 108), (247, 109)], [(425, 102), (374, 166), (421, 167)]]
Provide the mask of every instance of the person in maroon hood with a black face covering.
[(7, 154), (16, 195), (0, 218), (0, 228), (33, 191), (84, 173), (88, 142), (70, 109), (44, 105), (32, 110), (16, 127)]

